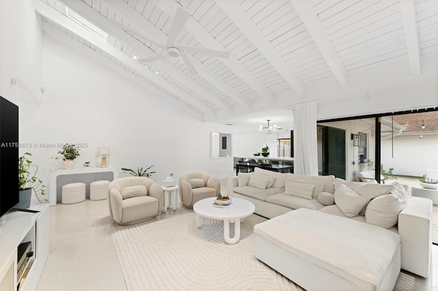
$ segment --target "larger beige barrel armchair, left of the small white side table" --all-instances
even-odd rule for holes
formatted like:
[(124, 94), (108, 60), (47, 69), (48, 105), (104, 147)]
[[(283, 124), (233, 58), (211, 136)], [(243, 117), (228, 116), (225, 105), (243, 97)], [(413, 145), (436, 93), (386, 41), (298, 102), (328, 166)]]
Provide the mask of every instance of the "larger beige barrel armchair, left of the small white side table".
[(108, 206), (121, 225), (152, 219), (164, 206), (162, 186), (146, 177), (116, 179), (108, 186)]

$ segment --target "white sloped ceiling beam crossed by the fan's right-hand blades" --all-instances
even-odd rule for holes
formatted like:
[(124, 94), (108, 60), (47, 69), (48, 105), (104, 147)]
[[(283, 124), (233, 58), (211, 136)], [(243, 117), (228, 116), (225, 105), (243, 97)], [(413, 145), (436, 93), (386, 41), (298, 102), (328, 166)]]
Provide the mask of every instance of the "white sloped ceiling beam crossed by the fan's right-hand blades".
[[(159, 1), (155, 0), (153, 1), (155, 5), (157, 5), (158, 8), (160, 8), (163, 11), (168, 11), (169, 7), (172, 8), (172, 10), (177, 10), (177, 7), (179, 4), (176, 1)], [(171, 14), (171, 15), (174, 15)], [(220, 42), (218, 42), (214, 37), (208, 33), (202, 27), (196, 20), (194, 20), (192, 17), (190, 17), (185, 23), (185, 27), (192, 32), (193, 36), (198, 40), (199, 43), (201, 43), (206, 48), (215, 48), (217, 50), (223, 50), (227, 51), (227, 48), (222, 46)], [(228, 59), (219, 59), (222, 61), (222, 63), (230, 68), (235, 74), (237, 74), (240, 79), (242, 79), (248, 86), (253, 88), (255, 92), (257, 92), (262, 98), (267, 100), (268, 102), (273, 103), (274, 102), (274, 94), (270, 92), (265, 86), (263, 86), (251, 72), (246, 69), (242, 64), (240, 64), (240, 61), (237, 60), (233, 55), (230, 55)]]

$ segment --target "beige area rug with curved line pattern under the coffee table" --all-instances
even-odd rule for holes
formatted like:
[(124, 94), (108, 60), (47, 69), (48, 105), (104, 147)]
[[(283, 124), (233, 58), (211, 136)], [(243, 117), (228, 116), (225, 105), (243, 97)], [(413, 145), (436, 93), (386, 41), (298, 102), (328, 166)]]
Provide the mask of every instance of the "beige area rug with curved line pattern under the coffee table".
[[(255, 258), (253, 228), (262, 221), (247, 217), (235, 245), (224, 243), (222, 221), (198, 228), (194, 213), (114, 232), (127, 289), (303, 290)], [(400, 273), (394, 290), (410, 291), (414, 281)]]

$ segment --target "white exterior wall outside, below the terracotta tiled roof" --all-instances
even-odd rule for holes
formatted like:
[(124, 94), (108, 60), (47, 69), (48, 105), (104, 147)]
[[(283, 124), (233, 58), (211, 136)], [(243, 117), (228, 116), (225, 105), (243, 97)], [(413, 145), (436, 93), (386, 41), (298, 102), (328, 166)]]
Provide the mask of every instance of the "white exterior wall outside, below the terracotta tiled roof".
[(394, 168), (394, 174), (422, 177), (438, 169), (438, 135), (394, 137), (394, 158), (391, 139), (383, 139), (381, 149), (383, 169)]

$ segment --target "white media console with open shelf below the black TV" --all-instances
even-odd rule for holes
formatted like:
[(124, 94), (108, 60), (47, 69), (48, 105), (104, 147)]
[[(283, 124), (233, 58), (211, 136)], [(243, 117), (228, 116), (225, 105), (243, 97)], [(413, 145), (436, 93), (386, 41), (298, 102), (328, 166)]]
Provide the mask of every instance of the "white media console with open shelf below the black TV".
[[(49, 256), (49, 204), (8, 212), (0, 218), (0, 290), (35, 290)], [(31, 243), (33, 254), (22, 276), (17, 276), (18, 245)], [(19, 286), (18, 286), (19, 284)], [(19, 289), (18, 289), (19, 287)]]

